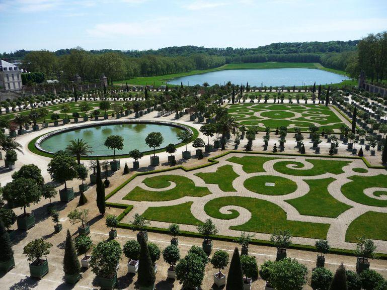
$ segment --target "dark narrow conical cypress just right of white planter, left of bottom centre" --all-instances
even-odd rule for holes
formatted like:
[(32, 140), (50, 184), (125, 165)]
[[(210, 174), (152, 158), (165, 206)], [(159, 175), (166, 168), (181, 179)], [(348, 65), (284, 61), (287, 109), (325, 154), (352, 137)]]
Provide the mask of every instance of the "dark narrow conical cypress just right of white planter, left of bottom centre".
[(154, 275), (153, 263), (150, 259), (148, 246), (145, 239), (140, 240), (140, 258), (138, 260), (138, 284), (142, 287), (149, 287), (154, 284), (156, 276)]

